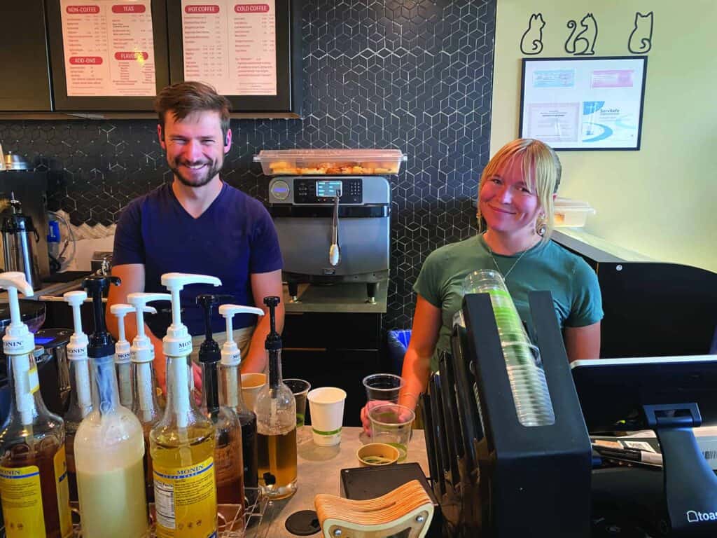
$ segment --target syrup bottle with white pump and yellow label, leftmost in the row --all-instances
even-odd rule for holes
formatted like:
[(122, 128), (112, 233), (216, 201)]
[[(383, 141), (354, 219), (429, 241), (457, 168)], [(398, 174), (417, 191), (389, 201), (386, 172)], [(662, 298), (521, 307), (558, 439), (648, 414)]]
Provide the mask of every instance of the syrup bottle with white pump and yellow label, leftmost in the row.
[(23, 273), (0, 274), (11, 324), (3, 336), (11, 390), (0, 432), (0, 496), (8, 538), (72, 536), (65, 472), (65, 424), (47, 410), (39, 391), (34, 337), (22, 323), (17, 292), (32, 296)]

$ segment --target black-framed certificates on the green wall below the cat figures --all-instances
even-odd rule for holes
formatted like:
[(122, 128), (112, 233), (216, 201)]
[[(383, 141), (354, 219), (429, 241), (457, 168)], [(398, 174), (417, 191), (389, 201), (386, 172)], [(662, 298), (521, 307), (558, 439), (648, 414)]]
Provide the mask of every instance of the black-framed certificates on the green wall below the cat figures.
[(640, 149), (647, 57), (523, 58), (521, 138), (559, 150)]

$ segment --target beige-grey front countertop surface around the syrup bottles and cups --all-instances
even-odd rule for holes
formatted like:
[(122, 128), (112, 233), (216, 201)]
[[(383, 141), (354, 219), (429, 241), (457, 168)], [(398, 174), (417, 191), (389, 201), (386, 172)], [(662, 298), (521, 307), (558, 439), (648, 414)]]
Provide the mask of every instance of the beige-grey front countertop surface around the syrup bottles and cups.
[[(298, 442), (298, 489), (289, 499), (268, 504), (262, 523), (247, 532), (255, 538), (293, 538), (284, 525), (288, 516), (299, 510), (313, 510), (316, 494), (339, 495), (339, 470), (358, 467), (356, 450), (370, 441), (361, 428), (344, 427), (341, 444), (322, 447), (313, 443), (310, 426), (302, 426), (297, 433)], [(423, 430), (414, 430), (408, 445), (406, 463), (417, 462), (424, 474), (428, 474), (428, 459)], [(321, 534), (312, 534), (320, 537)]]

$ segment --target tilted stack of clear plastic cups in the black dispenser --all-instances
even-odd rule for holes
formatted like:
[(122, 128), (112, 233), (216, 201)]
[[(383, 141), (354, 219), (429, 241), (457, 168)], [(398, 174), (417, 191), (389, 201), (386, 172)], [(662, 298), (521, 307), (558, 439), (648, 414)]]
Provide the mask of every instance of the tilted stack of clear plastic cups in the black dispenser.
[(528, 338), (503, 276), (494, 270), (474, 271), (463, 280), (463, 292), (490, 296), (518, 422), (523, 426), (555, 423), (540, 353)]

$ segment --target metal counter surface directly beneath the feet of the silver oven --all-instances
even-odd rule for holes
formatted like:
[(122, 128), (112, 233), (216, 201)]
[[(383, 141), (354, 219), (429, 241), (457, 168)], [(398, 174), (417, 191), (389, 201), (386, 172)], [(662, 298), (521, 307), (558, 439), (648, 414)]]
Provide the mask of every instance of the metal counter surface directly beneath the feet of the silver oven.
[(299, 284), (298, 302), (291, 300), (288, 285), (283, 287), (283, 301), (287, 312), (328, 313), (386, 313), (388, 282), (381, 282), (376, 290), (376, 303), (366, 302), (365, 283)]

